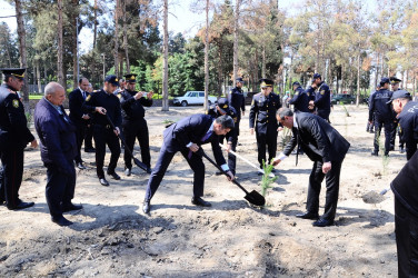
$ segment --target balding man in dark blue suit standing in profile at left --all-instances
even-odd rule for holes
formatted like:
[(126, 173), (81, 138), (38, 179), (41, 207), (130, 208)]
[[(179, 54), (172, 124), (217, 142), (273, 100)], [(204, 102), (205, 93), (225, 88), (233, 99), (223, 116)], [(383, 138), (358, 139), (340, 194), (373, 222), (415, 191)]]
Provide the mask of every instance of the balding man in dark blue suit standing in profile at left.
[(47, 202), (52, 221), (59, 226), (72, 224), (62, 216), (63, 212), (82, 208), (71, 202), (76, 189), (73, 159), (78, 148), (76, 127), (62, 107), (64, 99), (62, 86), (50, 82), (44, 88), (44, 98), (38, 102), (33, 117), (41, 159), (47, 167)]

